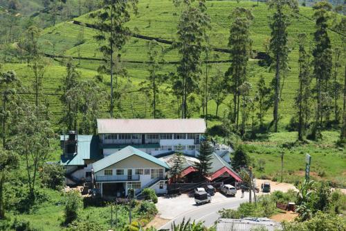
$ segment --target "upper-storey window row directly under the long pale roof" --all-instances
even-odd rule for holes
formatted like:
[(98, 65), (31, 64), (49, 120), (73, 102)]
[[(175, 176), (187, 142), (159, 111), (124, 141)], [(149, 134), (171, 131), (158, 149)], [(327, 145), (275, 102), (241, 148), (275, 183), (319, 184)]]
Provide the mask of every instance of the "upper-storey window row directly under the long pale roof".
[[(199, 134), (146, 134), (146, 139), (199, 139)], [(104, 139), (141, 139), (140, 134), (106, 134)]]

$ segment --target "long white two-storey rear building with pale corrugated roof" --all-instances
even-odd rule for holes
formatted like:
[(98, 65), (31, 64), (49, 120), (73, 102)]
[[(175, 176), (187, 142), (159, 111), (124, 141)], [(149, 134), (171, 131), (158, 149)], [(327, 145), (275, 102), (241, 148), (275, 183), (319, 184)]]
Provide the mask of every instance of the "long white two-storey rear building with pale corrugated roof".
[(128, 145), (154, 156), (177, 150), (197, 155), (204, 132), (203, 119), (98, 119), (104, 156)]

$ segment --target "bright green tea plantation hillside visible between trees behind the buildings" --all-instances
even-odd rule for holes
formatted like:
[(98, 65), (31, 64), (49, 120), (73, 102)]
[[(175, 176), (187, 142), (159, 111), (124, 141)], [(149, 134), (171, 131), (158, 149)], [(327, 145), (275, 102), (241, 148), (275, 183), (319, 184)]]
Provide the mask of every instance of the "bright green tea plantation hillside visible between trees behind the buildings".
[[(254, 15), (253, 24), (251, 26), (251, 37), (253, 39), (253, 59), (249, 65), (248, 81), (252, 83), (253, 89), (251, 94), (256, 92), (256, 84), (260, 76), (264, 76), (266, 84), (271, 83), (274, 76), (273, 72), (268, 71), (268, 67), (261, 67), (257, 59), (258, 52), (265, 52), (264, 44), (270, 38), (270, 28), (268, 26), (271, 11), (265, 3), (257, 4), (252, 1), (207, 1), (208, 14), (212, 19), (212, 30), (210, 31), (210, 46), (216, 49), (227, 49), (230, 19), (228, 16), (232, 10), (237, 7), (245, 7), (252, 10)], [(131, 21), (127, 24), (136, 35), (143, 35), (146, 39), (136, 37), (129, 38), (127, 45), (122, 50), (122, 66), (127, 68), (128, 76), (132, 83), (129, 87), (125, 87), (124, 93), (127, 96), (122, 100), (122, 117), (150, 117), (148, 112), (149, 105), (145, 100), (145, 95), (140, 92), (138, 83), (145, 81), (148, 76), (147, 64), (147, 42), (152, 38), (159, 38), (167, 41), (161, 43), (165, 49), (170, 48), (170, 42), (176, 40), (176, 25), (179, 20), (179, 9), (177, 10), (172, 1), (149, 1), (140, 0), (138, 3), (138, 15), (132, 15)], [(281, 126), (289, 123), (289, 120), (295, 114), (294, 96), (298, 87), (298, 44), (297, 37), (300, 33), (307, 33), (308, 44), (312, 49), (312, 33), (314, 31), (314, 21), (311, 19), (313, 14), (312, 8), (300, 7), (300, 12), (294, 15), (291, 26), (289, 26), (289, 68), (290, 71), (284, 79), (284, 87), (282, 90), (282, 102), (280, 104), (280, 121)], [(93, 19), (89, 15), (82, 15), (73, 19), (71, 22), (64, 22), (56, 26), (46, 28), (42, 31), (40, 44), (46, 55), (58, 55), (59, 57), (73, 57), (75, 65), (82, 74), (82, 78), (93, 78), (97, 75), (97, 69), (102, 63), (102, 54), (98, 51), (100, 44), (93, 39), (98, 33), (97, 30), (90, 28), (93, 25)], [(141, 37), (143, 37), (141, 36)], [(334, 47), (340, 46), (340, 35), (329, 30), (329, 36)], [(78, 60), (78, 57), (80, 60)], [(165, 53), (166, 63), (161, 72), (169, 73), (176, 70), (176, 62), (179, 55), (176, 50), (167, 50)], [(203, 57), (204, 58), (204, 57)], [(344, 58), (345, 59), (345, 58)], [(212, 51), (209, 55), (210, 76), (215, 75), (217, 69), (226, 71), (229, 64), (228, 53), (220, 51)], [(52, 60), (51, 66), (48, 67), (44, 78), (44, 89), (50, 105), (50, 110), (57, 119), (61, 114), (60, 102), (58, 100), (59, 92), (57, 88), (65, 75), (63, 62), (66, 58), (55, 58)], [(24, 64), (4, 65), (3, 69), (15, 69), (19, 77), (24, 83), (30, 83), (32, 78), (30, 70)], [(203, 69), (205, 69), (203, 67)], [(339, 78), (342, 77), (340, 69)], [(109, 90), (109, 76), (103, 76), (103, 83)], [(131, 89), (130, 89), (131, 87)], [(166, 87), (164, 87), (166, 89)], [(163, 112), (164, 117), (177, 117), (176, 105), (171, 103), (174, 99), (172, 94), (161, 96), (158, 102), (158, 108)], [(222, 117), (227, 110), (227, 104), (230, 97), (224, 101), (219, 108), (219, 116)], [(340, 101), (341, 104), (341, 101)], [(107, 102), (103, 102), (104, 117), (108, 116)], [(210, 101), (209, 113), (215, 114), (215, 103)], [(199, 117), (200, 113), (195, 113), (194, 117)], [(271, 110), (268, 111), (266, 121), (271, 120)]]

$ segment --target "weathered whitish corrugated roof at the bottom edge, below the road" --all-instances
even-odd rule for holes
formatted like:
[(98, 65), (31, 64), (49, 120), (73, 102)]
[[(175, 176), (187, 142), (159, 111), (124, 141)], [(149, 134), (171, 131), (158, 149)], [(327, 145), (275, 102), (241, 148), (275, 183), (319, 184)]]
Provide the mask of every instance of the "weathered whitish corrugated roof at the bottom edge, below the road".
[(248, 231), (264, 228), (268, 231), (282, 230), (280, 223), (266, 218), (219, 219), (217, 231)]

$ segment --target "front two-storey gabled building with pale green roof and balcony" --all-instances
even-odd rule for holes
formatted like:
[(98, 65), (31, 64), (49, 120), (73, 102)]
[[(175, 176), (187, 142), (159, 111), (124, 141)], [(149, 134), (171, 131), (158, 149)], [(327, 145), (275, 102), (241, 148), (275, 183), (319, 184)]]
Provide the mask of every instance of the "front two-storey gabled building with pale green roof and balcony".
[(167, 192), (167, 170), (170, 167), (158, 158), (127, 146), (92, 164), (95, 183), (105, 197), (127, 196), (128, 189), (139, 194), (152, 188), (156, 194)]

